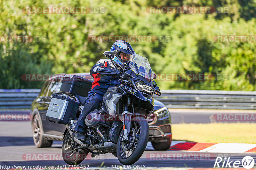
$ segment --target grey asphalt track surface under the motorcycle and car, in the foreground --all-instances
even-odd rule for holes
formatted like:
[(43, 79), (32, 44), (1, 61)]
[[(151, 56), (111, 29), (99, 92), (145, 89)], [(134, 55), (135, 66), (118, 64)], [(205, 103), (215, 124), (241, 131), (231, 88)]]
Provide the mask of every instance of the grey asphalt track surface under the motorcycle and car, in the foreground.
[[(58, 166), (67, 165), (61, 160), (61, 143), (56, 141), (51, 148), (36, 148), (32, 138), (29, 121), (0, 121), (0, 169), (3, 166)], [(142, 157), (134, 164), (142, 168), (148, 167), (213, 167), (216, 157), (231, 157), (230, 160), (242, 160), (244, 156), (255, 154), (236, 153), (207, 153), (188, 151), (145, 151)], [(188, 157), (192, 153), (193, 156)], [(199, 155), (198, 155), (199, 154)], [(200, 156), (201, 154), (201, 156)], [(55, 155), (55, 157), (53, 156)], [(40, 160), (37, 160), (40, 159)], [(174, 159), (174, 160), (173, 160)], [(121, 165), (112, 154), (98, 155), (95, 158), (87, 156), (81, 165), (89, 168), (111, 168)], [(67, 165), (68, 167), (68, 165)]]

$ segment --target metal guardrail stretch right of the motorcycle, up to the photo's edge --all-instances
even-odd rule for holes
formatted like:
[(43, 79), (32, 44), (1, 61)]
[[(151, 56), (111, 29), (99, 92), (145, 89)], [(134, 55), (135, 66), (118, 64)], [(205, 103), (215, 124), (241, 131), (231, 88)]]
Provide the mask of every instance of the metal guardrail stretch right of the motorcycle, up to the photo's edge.
[(167, 108), (188, 109), (256, 109), (255, 91), (161, 90), (154, 99)]

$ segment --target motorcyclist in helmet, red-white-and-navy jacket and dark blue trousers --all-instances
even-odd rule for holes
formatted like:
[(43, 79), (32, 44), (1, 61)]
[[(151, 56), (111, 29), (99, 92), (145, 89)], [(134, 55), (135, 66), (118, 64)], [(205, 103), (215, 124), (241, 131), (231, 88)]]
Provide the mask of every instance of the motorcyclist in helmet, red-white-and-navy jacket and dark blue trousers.
[(100, 105), (103, 102), (103, 96), (107, 92), (108, 88), (118, 85), (119, 81), (119, 78), (116, 77), (100, 76), (96, 70), (101, 70), (105, 67), (113, 70), (124, 69), (124, 64), (130, 60), (129, 56), (135, 53), (130, 43), (126, 42), (125, 40), (116, 40), (116, 42), (111, 46), (110, 52), (114, 54), (113, 60), (115, 63), (113, 63), (110, 59), (100, 59), (90, 70), (90, 74), (94, 78), (94, 81), (92, 82), (92, 89), (88, 93), (84, 109), (80, 114), (75, 127), (75, 138), (83, 143), (85, 142), (85, 132), (87, 128), (85, 124), (86, 116), (91, 111), (100, 108)]

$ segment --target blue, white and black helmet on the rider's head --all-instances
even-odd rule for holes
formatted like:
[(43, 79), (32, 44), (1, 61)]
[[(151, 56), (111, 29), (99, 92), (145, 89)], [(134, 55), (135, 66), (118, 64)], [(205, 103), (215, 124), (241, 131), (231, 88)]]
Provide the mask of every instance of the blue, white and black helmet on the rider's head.
[(110, 52), (114, 53), (113, 60), (121, 68), (124, 68), (124, 64), (130, 60), (130, 55), (135, 53), (130, 43), (125, 40), (116, 40), (111, 46)]

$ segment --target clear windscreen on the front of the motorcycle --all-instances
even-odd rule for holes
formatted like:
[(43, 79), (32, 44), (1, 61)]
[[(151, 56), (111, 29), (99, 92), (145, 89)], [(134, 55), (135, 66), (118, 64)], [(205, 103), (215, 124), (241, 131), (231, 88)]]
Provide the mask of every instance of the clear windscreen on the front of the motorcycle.
[(150, 64), (148, 62), (148, 58), (142, 57), (134, 53), (130, 55), (130, 61), (131, 62), (129, 66), (132, 68), (132, 71), (134, 71), (136, 74), (140, 74), (145, 78), (153, 79), (154, 73), (151, 70)]

